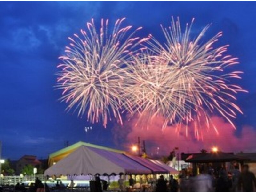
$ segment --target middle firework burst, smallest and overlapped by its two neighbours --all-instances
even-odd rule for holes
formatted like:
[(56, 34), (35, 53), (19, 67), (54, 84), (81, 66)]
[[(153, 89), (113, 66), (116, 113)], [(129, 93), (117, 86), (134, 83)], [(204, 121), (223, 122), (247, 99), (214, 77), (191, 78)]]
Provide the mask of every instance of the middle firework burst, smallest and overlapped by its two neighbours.
[(186, 103), (181, 105), (179, 101), (183, 90), (171, 78), (173, 71), (169, 66), (159, 63), (158, 58), (150, 53), (138, 54), (132, 59), (132, 62), (127, 63), (126, 71), (131, 75), (125, 90), (130, 113), (134, 115), (138, 112), (139, 121), (144, 124), (148, 124), (155, 116), (164, 117), (165, 125), (173, 113), (179, 118), (184, 117)]

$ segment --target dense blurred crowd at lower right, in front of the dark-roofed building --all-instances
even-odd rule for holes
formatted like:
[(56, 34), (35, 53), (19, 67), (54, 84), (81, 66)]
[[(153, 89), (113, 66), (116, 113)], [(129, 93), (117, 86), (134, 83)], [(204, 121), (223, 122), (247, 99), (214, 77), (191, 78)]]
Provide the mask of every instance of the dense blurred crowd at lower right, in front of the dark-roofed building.
[(221, 169), (219, 175), (214, 178), (205, 167), (200, 168), (200, 174), (195, 177), (180, 178), (180, 182), (173, 179), (164, 179), (161, 175), (156, 184), (156, 191), (255, 191), (255, 175), (250, 172), (248, 165), (242, 166), (242, 172), (239, 167), (235, 167), (231, 179), (224, 169)]

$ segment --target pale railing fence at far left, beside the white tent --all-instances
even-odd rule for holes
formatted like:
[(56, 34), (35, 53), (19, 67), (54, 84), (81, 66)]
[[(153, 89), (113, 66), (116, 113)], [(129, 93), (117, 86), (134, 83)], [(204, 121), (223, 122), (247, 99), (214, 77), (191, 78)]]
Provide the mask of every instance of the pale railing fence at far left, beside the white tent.
[(0, 185), (16, 185), (17, 183), (23, 183), (26, 181), (35, 181), (36, 177), (41, 181), (44, 181), (44, 175), (3, 176), (0, 177)]

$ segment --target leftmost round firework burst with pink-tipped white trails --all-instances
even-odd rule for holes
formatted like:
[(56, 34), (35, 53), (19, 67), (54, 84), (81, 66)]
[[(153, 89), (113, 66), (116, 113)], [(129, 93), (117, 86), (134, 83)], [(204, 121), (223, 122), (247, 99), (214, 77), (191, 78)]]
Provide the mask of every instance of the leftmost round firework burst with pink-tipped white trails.
[(122, 27), (125, 18), (118, 19), (113, 32), (108, 34), (108, 20), (101, 20), (100, 32), (94, 21), (87, 23), (87, 30), (81, 29), (81, 37), (74, 34), (68, 38), (71, 43), (66, 54), (61, 56), (61, 70), (57, 87), (63, 90), (62, 101), (68, 103), (68, 110), (75, 108), (78, 115), (87, 113), (92, 123), (102, 121), (106, 126), (114, 116), (122, 124), (120, 106), (124, 101), (124, 87), (129, 74), (124, 72), (124, 63), (131, 51), (147, 40), (134, 37), (132, 26)]

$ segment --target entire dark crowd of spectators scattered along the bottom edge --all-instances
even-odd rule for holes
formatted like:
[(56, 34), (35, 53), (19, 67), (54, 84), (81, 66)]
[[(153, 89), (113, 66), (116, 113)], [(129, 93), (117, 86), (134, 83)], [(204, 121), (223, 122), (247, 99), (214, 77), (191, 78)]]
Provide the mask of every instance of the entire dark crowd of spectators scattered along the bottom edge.
[[(136, 185), (132, 175), (130, 175), (128, 182), (130, 188)], [(120, 175), (117, 183), (120, 191), (127, 191), (122, 175)], [(241, 172), (239, 167), (235, 166), (231, 177), (225, 169), (220, 169), (218, 175), (213, 176), (209, 170), (202, 166), (200, 167), (200, 174), (195, 177), (188, 178), (181, 175), (179, 179), (175, 179), (173, 175), (170, 175), (169, 179), (167, 179), (161, 175), (154, 185), (153, 182), (151, 184), (154, 186), (153, 191), (255, 191), (256, 178), (249, 170), (248, 165), (243, 165)], [(109, 183), (96, 176), (95, 180), (90, 183), (90, 187), (91, 191), (107, 191)], [(68, 188), (74, 188), (74, 181), (71, 181)], [(61, 181), (57, 181), (55, 190), (65, 191), (66, 189), (67, 186)], [(1, 188), (0, 191), (2, 191)], [(29, 188), (26, 188), (24, 183), (17, 183), (14, 191), (50, 191), (50, 189), (46, 183), (42, 183), (42, 181), (36, 178), (35, 183), (31, 183)]]

